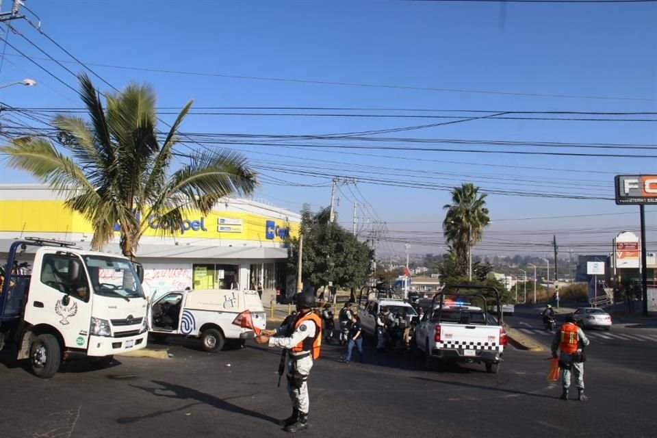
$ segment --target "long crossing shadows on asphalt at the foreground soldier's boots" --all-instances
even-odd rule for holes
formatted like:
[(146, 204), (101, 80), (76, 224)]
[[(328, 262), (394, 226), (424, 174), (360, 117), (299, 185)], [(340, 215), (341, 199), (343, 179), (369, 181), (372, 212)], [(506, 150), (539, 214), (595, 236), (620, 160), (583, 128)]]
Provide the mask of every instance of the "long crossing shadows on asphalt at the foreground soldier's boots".
[[(195, 401), (189, 404), (185, 404), (184, 406), (177, 407), (176, 409), (170, 409), (168, 411), (155, 411), (153, 413), (140, 415), (136, 417), (121, 417), (116, 420), (117, 423), (119, 424), (134, 423), (140, 420), (144, 420), (146, 418), (159, 417), (160, 415), (166, 415), (168, 413), (182, 411), (183, 409), (188, 409), (197, 404), (207, 404), (216, 409), (222, 409), (223, 411), (239, 413), (242, 415), (247, 415), (248, 417), (259, 418), (260, 420), (265, 420), (267, 422), (271, 422), (274, 424), (278, 424), (279, 422), (277, 418), (270, 417), (269, 415), (264, 415), (263, 413), (250, 411), (249, 409), (245, 409), (243, 407), (237, 406), (236, 404), (228, 402), (227, 400), (230, 400), (230, 398), (217, 398), (210, 394), (206, 394), (205, 392), (197, 391), (196, 389), (190, 387), (175, 385), (173, 383), (168, 383), (163, 381), (152, 381), (152, 382), (155, 383), (155, 385), (159, 385), (159, 387), (142, 387), (139, 385), (129, 385), (129, 386), (133, 388), (141, 389), (142, 391), (146, 391), (149, 394), (152, 394), (153, 396), (156, 397), (173, 398), (178, 400), (195, 400)], [(161, 394), (162, 391), (172, 392), (173, 394)], [(245, 398), (250, 396), (253, 396), (253, 394), (246, 394), (240, 396), (239, 398)]]

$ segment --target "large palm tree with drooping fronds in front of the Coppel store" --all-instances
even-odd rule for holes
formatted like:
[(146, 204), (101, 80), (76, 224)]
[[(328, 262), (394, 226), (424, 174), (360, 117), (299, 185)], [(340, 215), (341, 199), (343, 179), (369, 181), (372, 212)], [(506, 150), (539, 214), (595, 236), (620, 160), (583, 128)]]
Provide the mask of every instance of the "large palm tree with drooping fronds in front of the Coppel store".
[(92, 248), (101, 250), (114, 238), (118, 225), (123, 255), (133, 259), (148, 220), (162, 235), (180, 229), (191, 210), (208, 214), (222, 196), (246, 195), (257, 186), (246, 158), (228, 150), (192, 153), (187, 164), (172, 169), (177, 130), (192, 101), (178, 114), (164, 140), (157, 138), (155, 92), (149, 85), (129, 84), (106, 94), (86, 75), (79, 76), (80, 96), (89, 121), (57, 115), (58, 148), (40, 137), (16, 138), (0, 151), (12, 168), (27, 170), (65, 194), (66, 207), (79, 212), (94, 227)]

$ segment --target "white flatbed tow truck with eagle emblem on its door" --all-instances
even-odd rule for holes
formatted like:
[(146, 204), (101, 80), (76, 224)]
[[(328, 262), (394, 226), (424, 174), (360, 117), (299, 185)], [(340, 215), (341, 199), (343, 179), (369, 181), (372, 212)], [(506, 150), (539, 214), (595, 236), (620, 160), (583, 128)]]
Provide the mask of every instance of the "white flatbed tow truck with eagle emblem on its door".
[[(13, 346), (36, 376), (62, 361), (88, 357), (106, 365), (146, 346), (142, 267), (125, 257), (27, 237), (12, 243), (0, 289), (0, 349)], [(28, 251), (36, 247), (36, 252)], [(30, 273), (18, 257), (34, 255)]]

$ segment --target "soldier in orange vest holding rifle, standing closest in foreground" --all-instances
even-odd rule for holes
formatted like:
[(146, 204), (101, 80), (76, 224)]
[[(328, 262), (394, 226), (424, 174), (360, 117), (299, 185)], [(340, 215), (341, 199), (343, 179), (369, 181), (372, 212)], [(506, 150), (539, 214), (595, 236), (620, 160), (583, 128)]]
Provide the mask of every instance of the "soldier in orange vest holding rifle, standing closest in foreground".
[(287, 393), (292, 400), (292, 415), (283, 422), (285, 432), (307, 428), (309, 398), (306, 381), (315, 359), (320, 357), (322, 320), (312, 311), (313, 294), (296, 296), (296, 318), (276, 330), (263, 330), (255, 338), (258, 344), (287, 349)]

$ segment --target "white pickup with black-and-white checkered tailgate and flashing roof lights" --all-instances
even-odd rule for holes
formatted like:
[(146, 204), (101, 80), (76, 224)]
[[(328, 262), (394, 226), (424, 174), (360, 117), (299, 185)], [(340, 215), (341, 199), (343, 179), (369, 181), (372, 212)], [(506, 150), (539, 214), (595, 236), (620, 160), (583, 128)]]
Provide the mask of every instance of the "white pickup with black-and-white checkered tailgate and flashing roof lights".
[[(492, 289), (499, 297), (493, 287), (450, 286), (454, 287)], [(434, 296), (432, 305), (415, 327), (413, 346), (424, 353), (426, 368), (432, 370), (437, 363), (453, 361), (484, 363), (487, 372), (498, 372), (506, 345), (500, 315), (497, 320), (489, 318), (485, 297), (481, 294), (458, 294), (457, 298), (450, 298), (455, 295), (448, 294), (447, 289)], [(463, 302), (465, 297), (480, 298), (482, 307)]]

